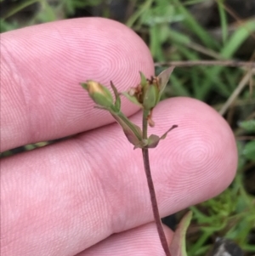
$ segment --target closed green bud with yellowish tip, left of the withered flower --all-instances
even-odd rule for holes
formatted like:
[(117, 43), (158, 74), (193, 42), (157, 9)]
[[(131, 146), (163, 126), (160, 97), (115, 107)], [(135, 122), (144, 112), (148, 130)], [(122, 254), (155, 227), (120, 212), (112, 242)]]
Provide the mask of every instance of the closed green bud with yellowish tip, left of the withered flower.
[(82, 83), (82, 88), (85, 88), (88, 91), (90, 98), (94, 100), (97, 105), (106, 108), (114, 105), (110, 90), (99, 82), (88, 80), (86, 83)]

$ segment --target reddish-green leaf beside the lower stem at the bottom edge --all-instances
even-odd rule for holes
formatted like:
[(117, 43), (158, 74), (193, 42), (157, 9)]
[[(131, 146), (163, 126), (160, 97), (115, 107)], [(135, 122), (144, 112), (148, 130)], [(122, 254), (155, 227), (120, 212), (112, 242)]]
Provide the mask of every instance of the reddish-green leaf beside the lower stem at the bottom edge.
[(171, 255), (187, 256), (185, 236), (190, 225), (191, 218), (192, 212), (190, 211), (184, 215), (183, 219), (181, 219), (180, 223), (178, 224), (169, 247)]

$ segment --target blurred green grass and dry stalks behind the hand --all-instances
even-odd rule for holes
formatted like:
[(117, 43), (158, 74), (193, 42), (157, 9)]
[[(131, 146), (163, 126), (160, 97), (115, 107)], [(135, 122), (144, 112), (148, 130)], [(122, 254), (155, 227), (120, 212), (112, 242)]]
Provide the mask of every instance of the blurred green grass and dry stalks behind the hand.
[(206, 255), (220, 236), (235, 241), (246, 256), (255, 254), (255, 1), (1, 0), (0, 4), (2, 32), (103, 16), (130, 26), (144, 39), (156, 73), (163, 65), (177, 65), (164, 97), (189, 96), (212, 105), (229, 122), (239, 149), (238, 172), (229, 188), (191, 208), (188, 253)]

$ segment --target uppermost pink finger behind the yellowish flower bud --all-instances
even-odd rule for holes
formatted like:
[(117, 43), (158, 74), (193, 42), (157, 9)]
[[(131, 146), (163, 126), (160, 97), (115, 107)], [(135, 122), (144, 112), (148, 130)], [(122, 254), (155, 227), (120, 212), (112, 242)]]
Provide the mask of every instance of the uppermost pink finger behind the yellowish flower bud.
[[(126, 26), (102, 18), (61, 20), (3, 33), (1, 151), (97, 128), (113, 119), (79, 82), (110, 81), (122, 91), (154, 73), (145, 43)], [(129, 116), (138, 108), (126, 100)]]

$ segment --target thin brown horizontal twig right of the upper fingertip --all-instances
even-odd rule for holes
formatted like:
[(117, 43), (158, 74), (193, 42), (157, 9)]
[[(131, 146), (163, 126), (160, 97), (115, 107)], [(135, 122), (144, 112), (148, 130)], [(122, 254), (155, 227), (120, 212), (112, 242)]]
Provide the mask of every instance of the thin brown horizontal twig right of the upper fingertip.
[(231, 67), (255, 67), (255, 62), (239, 61), (239, 60), (185, 60), (185, 61), (167, 61), (156, 62), (155, 66), (175, 65), (175, 66), (194, 66), (194, 65), (224, 65)]

